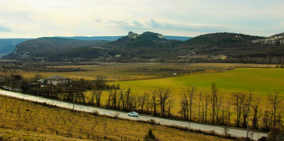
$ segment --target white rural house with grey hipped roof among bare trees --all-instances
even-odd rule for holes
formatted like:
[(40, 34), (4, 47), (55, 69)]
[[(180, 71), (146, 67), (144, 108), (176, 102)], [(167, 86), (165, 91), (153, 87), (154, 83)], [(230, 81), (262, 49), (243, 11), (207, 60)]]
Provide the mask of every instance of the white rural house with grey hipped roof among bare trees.
[(58, 83), (70, 84), (71, 81), (72, 81), (71, 78), (67, 78), (57, 74), (39, 80), (39, 82), (41, 83), (44, 82), (46, 84), (53, 84), (53, 85), (56, 85)]

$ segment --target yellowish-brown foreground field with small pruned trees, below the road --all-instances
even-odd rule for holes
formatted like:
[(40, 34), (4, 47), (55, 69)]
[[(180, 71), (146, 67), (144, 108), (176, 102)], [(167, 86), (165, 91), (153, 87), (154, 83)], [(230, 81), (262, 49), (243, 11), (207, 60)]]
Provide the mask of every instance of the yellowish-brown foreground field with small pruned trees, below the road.
[[(0, 137), (11, 140), (104, 140), (104, 136), (106, 140), (143, 140), (149, 128), (159, 140), (228, 140), (161, 125), (153, 128), (146, 123), (72, 113), (3, 96), (0, 96), (0, 113)], [(72, 138), (65, 137), (67, 131), (71, 131)]]

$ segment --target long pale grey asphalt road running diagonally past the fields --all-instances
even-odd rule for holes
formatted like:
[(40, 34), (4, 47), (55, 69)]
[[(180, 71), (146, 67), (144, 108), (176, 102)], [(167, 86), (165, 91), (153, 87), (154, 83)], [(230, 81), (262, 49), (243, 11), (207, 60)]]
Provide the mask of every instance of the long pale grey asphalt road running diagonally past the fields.
[[(31, 95), (27, 95), (27, 94), (20, 94), (20, 93), (17, 93), (17, 92), (0, 90), (0, 94), (12, 96), (12, 97), (16, 97), (16, 98), (23, 98), (23, 99), (31, 100), (31, 101), (47, 102), (49, 104), (53, 104), (53, 105), (57, 105), (57, 106), (65, 107), (65, 108), (69, 108), (69, 109), (73, 108), (73, 104), (68, 103), (68, 102), (50, 100), (50, 99), (47, 99), (47, 98), (41, 98), (41, 97), (31, 96)], [(150, 117), (150, 116), (144, 116), (144, 115), (140, 115), (138, 117), (132, 117), (132, 116), (128, 116), (127, 113), (125, 113), (125, 112), (118, 112), (118, 111), (113, 111), (113, 110), (93, 108), (93, 107), (82, 106), (82, 105), (77, 105), (77, 104), (75, 104), (74, 109), (80, 110), (80, 111), (87, 111), (87, 112), (97, 110), (97, 111), (99, 111), (99, 114), (110, 115), (110, 116), (114, 116), (116, 113), (119, 113), (119, 117), (122, 117), (124, 119), (133, 119), (133, 120), (135, 120), (135, 119), (140, 119), (140, 120), (154, 119), (156, 122), (162, 123), (163, 125), (164, 124), (166, 124), (166, 125), (174, 124), (174, 125), (180, 125), (180, 126), (183, 126), (183, 127), (189, 127), (190, 126), (191, 129), (200, 129), (202, 131), (214, 130), (216, 133), (224, 134), (224, 128), (222, 128), (222, 127), (216, 127), (216, 126), (210, 126), (210, 125), (204, 125), (204, 124), (197, 124), (197, 123), (190, 123), (189, 124), (189, 122), (163, 119), (163, 118), (158, 118), (158, 117)], [(233, 135), (233, 136), (239, 136), (239, 137), (246, 137), (247, 136), (247, 131), (245, 131), (245, 130), (229, 129), (228, 133)], [(267, 134), (264, 134), (264, 133), (249, 132), (250, 138), (252, 137), (252, 135), (253, 135), (254, 140), (258, 140), (258, 138), (260, 138), (262, 136), (267, 136)]]

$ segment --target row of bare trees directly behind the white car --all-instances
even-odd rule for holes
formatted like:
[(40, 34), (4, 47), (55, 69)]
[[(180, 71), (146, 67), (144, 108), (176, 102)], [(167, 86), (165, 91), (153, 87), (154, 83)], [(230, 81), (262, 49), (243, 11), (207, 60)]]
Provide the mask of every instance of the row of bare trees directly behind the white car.
[(131, 111), (140, 110), (140, 113), (170, 117), (174, 104), (173, 92), (170, 88), (150, 88), (144, 94), (139, 95), (137, 91), (128, 89), (114, 89), (108, 91), (107, 108)]

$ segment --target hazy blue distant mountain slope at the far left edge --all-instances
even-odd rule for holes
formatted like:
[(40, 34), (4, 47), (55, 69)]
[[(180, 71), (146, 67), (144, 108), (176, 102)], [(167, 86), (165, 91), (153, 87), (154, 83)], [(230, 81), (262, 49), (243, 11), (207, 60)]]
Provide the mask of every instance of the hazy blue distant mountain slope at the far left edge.
[(30, 39), (0, 39), (0, 56), (14, 51), (15, 46)]

